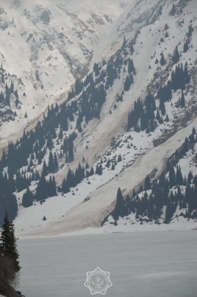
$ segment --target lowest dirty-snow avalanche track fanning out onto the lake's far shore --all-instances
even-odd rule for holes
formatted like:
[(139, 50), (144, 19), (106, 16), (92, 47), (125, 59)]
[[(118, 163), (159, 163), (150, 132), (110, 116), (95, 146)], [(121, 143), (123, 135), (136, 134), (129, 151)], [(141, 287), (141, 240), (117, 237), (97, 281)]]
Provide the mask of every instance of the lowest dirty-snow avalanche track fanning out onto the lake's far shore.
[[(15, 219), (17, 236), (20, 238), (55, 236), (89, 227), (100, 227), (104, 217), (110, 213), (115, 206), (118, 187), (121, 187), (124, 195), (131, 194), (132, 189), (138, 185), (147, 174), (150, 174), (155, 169), (157, 169), (155, 178), (159, 177), (164, 168), (165, 160), (174, 153), (175, 148), (180, 146), (180, 139), (185, 139), (186, 136), (188, 137), (191, 134), (193, 126), (196, 125), (197, 119), (195, 119), (195, 122), (191, 125), (179, 130), (164, 144), (148, 150), (148, 152), (142, 155), (133, 165), (125, 166), (118, 177), (115, 176), (113, 178), (112, 175), (115, 175), (115, 173), (111, 174), (111, 170), (107, 171), (107, 169), (105, 169), (105, 178), (104, 174), (97, 177), (94, 175), (89, 178), (91, 182), (90, 185), (87, 181), (78, 184), (78, 191), (73, 189), (75, 193), (74, 196), (72, 192), (70, 192), (64, 196), (60, 195), (58, 197), (48, 198), (42, 205), (35, 203), (35, 205), (30, 208), (21, 207), (19, 209), (19, 215)], [(108, 178), (107, 182), (106, 178)], [(89, 198), (89, 200), (84, 202), (86, 198)], [(42, 220), (44, 215), (47, 217), (46, 221)], [(131, 232), (136, 230), (144, 231), (147, 230), (147, 227), (144, 227), (144, 225), (140, 225), (139, 227), (130, 225), (128, 227)], [(163, 230), (171, 230), (173, 228), (175, 230), (181, 230), (182, 228), (193, 229), (196, 227), (197, 224), (179, 220), (171, 224), (170, 227), (163, 224), (161, 228), (163, 228)], [(158, 230), (160, 227), (150, 224), (149, 228), (150, 230)], [(105, 227), (105, 229), (103, 227), (100, 231), (92, 229), (91, 233), (93, 230), (95, 233), (114, 231), (110, 226)], [(126, 228), (126, 231), (127, 230), (128, 228)]]

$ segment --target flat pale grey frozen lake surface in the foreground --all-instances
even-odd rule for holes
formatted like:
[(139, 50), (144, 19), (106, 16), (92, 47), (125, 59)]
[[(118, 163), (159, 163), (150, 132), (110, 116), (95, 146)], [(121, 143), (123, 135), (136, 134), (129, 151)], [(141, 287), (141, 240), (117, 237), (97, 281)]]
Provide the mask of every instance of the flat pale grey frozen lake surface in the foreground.
[[(107, 297), (197, 297), (197, 231), (19, 240), (26, 297), (88, 297), (86, 272), (110, 271)], [(101, 295), (97, 295), (101, 296)]]

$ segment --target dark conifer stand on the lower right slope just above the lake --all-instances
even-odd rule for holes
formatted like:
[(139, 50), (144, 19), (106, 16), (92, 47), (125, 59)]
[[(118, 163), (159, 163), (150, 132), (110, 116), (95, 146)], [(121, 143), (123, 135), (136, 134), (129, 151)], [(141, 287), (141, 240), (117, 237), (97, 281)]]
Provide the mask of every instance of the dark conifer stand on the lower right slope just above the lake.
[[(172, 158), (173, 162), (177, 163), (189, 149), (193, 150), (195, 143), (197, 143), (197, 135), (196, 130), (193, 129), (189, 139), (186, 138), (179, 151), (176, 150)], [(141, 198), (138, 196), (140, 193)], [(112, 216), (115, 225), (120, 217), (130, 214), (135, 214), (135, 219), (140, 220), (141, 224), (153, 220), (159, 223), (161, 217), (164, 217), (164, 223), (169, 223), (174, 213), (182, 209), (181, 216), (197, 219), (197, 176), (193, 176), (190, 171), (188, 177), (183, 178), (180, 166), (177, 165), (175, 171), (174, 165), (168, 161), (167, 174), (163, 172), (152, 184), (147, 176), (144, 187), (140, 185), (138, 194), (133, 189), (132, 197), (127, 195), (124, 200), (119, 188)]]

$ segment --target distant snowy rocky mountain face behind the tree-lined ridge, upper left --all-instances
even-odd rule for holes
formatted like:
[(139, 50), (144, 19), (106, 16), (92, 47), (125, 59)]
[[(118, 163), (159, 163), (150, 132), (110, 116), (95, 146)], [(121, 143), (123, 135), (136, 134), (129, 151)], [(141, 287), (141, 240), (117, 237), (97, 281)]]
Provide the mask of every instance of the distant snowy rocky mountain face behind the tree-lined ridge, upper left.
[[(1, 139), (29, 126), (48, 104), (84, 77), (117, 37), (119, 17), (134, 1), (127, 0), (2, 0), (0, 2), (0, 63), (3, 72), (21, 78), (20, 109), (12, 98), (12, 118), (2, 117)], [(122, 41), (122, 40), (121, 40)], [(8, 87), (10, 81), (6, 80)], [(3, 85), (1, 85), (3, 90)], [(24, 92), (26, 96), (23, 96)], [(65, 97), (66, 98), (66, 97)], [(12, 104), (13, 103), (13, 104)], [(27, 118), (25, 113), (27, 112)], [(9, 113), (11, 111), (9, 110)], [(6, 115), (8, 112), (6, 113)], [(15, 120), (14, 120), (15, 119)], [(14, 122), (13, 122), (14, 121)]]

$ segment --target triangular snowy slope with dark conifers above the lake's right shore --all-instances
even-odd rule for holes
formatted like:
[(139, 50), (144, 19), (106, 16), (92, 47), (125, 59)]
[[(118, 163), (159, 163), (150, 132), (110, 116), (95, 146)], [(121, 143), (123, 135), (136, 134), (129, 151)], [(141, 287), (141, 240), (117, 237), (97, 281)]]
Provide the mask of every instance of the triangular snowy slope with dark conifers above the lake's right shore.
[[(196, 228), (197, 227), (197, 136), (193, 128), (189, 139), (176, 149), (167, 161), (167, 169), (158, 180), (152, 184), (147, 176), (140, 185), (138, 194), (135, 190), (132, 196), (118, 205), (122, 195), (117, 194), (114, 210), (103, 221), (104, 230), (112, 231), (114, 227), (120, 231), (132, 230), (133, 225), (155, 224), (159, 226), (170, 224), (160, 229)], [(174, 225), (175, 224), (175, 225)], [(147, 228), (147, 226), (145, 227)], [(174, 228), (174, 227), (172, 227)], [(143, 227), (141, 228), (143, 230)], [(153, 227), (154, 229), (154, 227)]]

